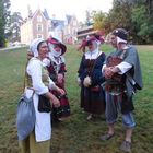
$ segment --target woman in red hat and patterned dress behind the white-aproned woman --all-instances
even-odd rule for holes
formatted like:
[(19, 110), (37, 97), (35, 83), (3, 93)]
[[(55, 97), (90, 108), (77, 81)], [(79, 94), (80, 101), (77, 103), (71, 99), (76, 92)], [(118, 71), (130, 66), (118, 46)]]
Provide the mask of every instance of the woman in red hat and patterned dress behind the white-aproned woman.
[[(56, 83), (57, 86), (61, 87), (66, 92), (64, 82), (66, 82), (66, 60), (64, 52), (67, 47), (64, 44), (58, 39), (50, 37), (47, 39), (49, 46), (48, 58), (44, 60), (44, 64), (47, 67), (50, 79)], [(52, 119), (54, 120), (63, 120), (70, 116), (70, 105), (67, 96), (60, 96), (56, 91), (51, 91), (56, 97), (60, 101), (60, 107), (52, 108)]]

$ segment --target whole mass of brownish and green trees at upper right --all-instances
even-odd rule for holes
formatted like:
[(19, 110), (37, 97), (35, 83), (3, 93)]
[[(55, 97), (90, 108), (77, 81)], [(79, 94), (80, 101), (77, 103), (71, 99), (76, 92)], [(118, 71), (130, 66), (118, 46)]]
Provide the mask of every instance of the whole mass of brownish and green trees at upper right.
[(114, 0), (107, 15), (96, 12), (93, 15), (95, 30), (108, 34), (122, 27), (129, 32), (134, 44), (153, 44), (153, 2), (152, 0)]

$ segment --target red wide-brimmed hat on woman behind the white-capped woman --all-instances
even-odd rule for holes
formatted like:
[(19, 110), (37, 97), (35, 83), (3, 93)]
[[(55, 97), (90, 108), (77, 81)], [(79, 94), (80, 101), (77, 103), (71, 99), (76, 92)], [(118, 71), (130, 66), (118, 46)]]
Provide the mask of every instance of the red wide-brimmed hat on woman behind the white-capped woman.
[(47, 43), (59, 46), (61, 48), (61, 55), (63, 55), (67, 51), (66, 45), (62, 44), (61, 42), (59, 42), (58, 39), (54, 38), (54, 37), (48, 38)]

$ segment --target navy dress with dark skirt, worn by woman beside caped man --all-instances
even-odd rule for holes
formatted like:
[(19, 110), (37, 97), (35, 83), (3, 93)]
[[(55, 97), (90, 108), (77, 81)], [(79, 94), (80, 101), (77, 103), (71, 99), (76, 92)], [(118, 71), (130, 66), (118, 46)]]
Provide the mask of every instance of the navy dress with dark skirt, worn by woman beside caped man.
[[(90, 52), (91, 54), (91, 52)], [(105, 97), (101, 84), (104, 82), (102, 67), (105, 61), (105, 54), (95, 50), (95, 58), (89, 59), (89, 52), (84, 54), (79, 68), (81, 80), (81, 107), (91, 114), (103, 114), (105, 111)], [(85, 76), (91, 78), (91, 85), (85, 87), (83, 81)]]

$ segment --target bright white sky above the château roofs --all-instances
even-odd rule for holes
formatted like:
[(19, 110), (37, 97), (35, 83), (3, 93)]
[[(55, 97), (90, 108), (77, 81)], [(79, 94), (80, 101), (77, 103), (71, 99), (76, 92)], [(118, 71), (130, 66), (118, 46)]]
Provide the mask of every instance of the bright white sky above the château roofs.
[(85, 21), (85, 11), (102, 10), (108, 12), (113, 7), (113, 0), (10, 0), (11, 11), (21, 12), (23, 19), (27, 16), (27, 5), (32, 12), (38, 8), (47, 9), (50, 17), (64, 20), (66, 14), (75, 15), (78, 21)]

